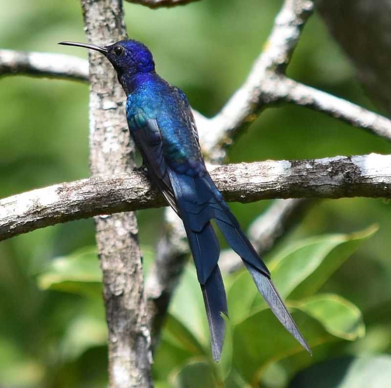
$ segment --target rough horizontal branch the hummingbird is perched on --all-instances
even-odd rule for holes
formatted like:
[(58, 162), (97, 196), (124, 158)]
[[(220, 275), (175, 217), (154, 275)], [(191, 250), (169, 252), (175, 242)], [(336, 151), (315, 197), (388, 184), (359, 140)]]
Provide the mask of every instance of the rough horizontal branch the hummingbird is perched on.
[[(391, 155), (266, 160), (211, 170), (227, 201), (391, 197)], [(166, 205), (140, 172), (92, 177), (0, 200), (0, 240), (62, 222)], [(105, 219), (105, 217), (102, 217)]]

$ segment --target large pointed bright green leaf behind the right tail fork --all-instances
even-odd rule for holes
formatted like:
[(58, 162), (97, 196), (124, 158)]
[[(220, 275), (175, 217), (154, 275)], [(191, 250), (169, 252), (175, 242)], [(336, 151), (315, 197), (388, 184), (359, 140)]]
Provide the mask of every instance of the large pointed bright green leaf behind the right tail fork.
[[(376, 230), (372, 226), (361, 232), (327, 234), (290, 244), (268, 263), (282, 298), (312, 295)], [(236, 275), (228, 290), (228, 307), (233, 324), (267, 307), (245, 270)]]

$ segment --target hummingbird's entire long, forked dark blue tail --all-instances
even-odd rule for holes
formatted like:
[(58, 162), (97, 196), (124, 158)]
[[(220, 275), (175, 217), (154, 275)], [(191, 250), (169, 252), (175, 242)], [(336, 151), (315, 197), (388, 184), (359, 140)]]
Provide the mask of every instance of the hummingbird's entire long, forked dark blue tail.
[(252, 275), (258, 290), (282, 325), (311, 353), (281, 297), (270, 280), (270, 273), (239, 223), (224, 202), (211, 177), (190, 176), (167, 170), (180, 214), (193, 253), (198, 281), (204, 297), (211, 334), (213, 358), (218, 361), (228, 317), (227, 299), (217, 261), (220, 253), (217, 237), (210, 220), (216, 220), (231, 248), (236, 251)]

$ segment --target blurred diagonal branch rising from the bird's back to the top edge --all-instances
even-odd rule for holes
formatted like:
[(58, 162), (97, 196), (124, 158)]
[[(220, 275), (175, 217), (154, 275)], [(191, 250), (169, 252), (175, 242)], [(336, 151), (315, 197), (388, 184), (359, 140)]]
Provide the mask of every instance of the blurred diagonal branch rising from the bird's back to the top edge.
[(196, 115), (197, 124), (201, 124), (198, 128), (202, 149), (211, 160), (224, 158), (224, 147), (231, 144), (243, 124), (254, 121), (262, 108), (276, 101), (276, 98), (270, 100), (272, 88), (266, 87), (265, 93), (263, 85), (273, 82), (285, 70), (312, 10), (312, 1), (285, 0), (265, 48), (254, 62), (244, 84), (208, 122)]

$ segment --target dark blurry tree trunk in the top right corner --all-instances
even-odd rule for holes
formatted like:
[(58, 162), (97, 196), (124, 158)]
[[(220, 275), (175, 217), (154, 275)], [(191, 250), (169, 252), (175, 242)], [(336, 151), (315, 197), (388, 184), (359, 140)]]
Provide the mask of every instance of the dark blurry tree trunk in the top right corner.
[(316, 0), (370, 96), (391, 114), (391, 1)]

